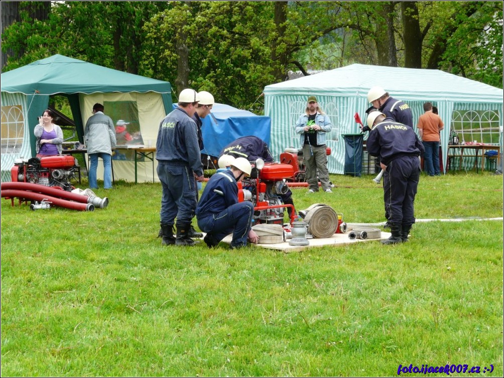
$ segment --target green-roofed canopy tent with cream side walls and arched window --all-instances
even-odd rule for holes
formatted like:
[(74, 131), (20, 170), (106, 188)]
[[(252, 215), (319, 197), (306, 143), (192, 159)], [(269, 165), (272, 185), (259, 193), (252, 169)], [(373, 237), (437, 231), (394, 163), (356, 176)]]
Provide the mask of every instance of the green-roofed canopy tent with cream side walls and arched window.
[[(62, 55), (2, 73), (1, 80), (2, 182), (10, 180), (16, 159), (35, 156), (33, 129), (50, 96), (68, 98), (80, 142), (94, 103), (104, 104), (114, 122), (126, 120), (137, 144), (152, 143), (159, 121), (171, 111), (170, 83)], [(133, 164), (114, 161), (115, 178), (134, 179)], [(152, 179), (152, 166), (139, 164), (138, 180)]]

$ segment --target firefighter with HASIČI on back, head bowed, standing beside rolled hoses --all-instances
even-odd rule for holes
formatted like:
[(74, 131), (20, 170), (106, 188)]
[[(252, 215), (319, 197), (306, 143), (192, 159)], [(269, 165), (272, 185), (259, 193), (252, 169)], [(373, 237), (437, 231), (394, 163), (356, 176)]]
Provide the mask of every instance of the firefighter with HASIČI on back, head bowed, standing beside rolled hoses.
[(366, 146), (369, 154), (380, 157), (385, 169), (384, 201), (389, 212), (392, 236), (383, 244), (406, 242), (411, 226), (415, 223), (413, 202), (420, 178), (419, 156), (424, 152), (423, 144), (413, 128), (387, 118), (381, 112), (367, 116), (371, 128)]

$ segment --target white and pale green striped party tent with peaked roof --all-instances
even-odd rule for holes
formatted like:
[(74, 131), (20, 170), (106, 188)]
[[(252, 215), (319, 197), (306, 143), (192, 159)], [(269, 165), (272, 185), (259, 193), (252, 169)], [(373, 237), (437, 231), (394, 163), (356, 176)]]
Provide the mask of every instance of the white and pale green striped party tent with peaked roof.
[[(327, 142), (332, 150), (329, 171), (343, 174), (345, 141), (341, 135), (360, 132), (354, 114), (359, 113), (365, 124), (365, 110), (370, 106), (367, 92), (374, 86), (383, 87), (391, 97), (410, 106), (415, 130), (418, 117), (423, 113), (423, 103), (429, 101), (437, 106), (445, 123), (441, 133), (443, 151), (448, 150), (454, 112), (492, 111), (502, 125), (504, 92), (499, 88), (437, 69), (352, 64), (265, 87), (265, 115), (271, 117), (273, 156), (278, 158), (286, 147), (300, 147), (294, 125), (304, 112), (308, 96), (316, 96), (333, 123)], [(444, 167), (446, 160), (447, 154), (443, 153)]]

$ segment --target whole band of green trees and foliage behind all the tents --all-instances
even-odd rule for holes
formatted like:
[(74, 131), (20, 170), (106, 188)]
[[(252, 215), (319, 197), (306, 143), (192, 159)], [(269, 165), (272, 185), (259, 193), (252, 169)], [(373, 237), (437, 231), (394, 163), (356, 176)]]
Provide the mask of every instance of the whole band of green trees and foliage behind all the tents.
[(53, 2), (47, 20), (20, 9), (2, 34), (4, 70), (60, 53), (257, 113), (264, 87), (289, 70), (351, 63), (440, 68), (502, 87), (502, 2), (75, 1)]

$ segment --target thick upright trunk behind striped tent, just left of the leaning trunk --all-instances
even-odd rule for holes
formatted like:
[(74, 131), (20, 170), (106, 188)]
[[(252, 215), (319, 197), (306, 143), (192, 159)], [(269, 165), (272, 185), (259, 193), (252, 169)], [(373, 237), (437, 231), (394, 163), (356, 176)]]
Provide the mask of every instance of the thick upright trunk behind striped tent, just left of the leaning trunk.
[(402, 2), (404, 36), (404, 66), (422, 68), (422, 33), (418, 20), (417, 2)]

